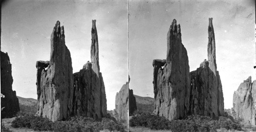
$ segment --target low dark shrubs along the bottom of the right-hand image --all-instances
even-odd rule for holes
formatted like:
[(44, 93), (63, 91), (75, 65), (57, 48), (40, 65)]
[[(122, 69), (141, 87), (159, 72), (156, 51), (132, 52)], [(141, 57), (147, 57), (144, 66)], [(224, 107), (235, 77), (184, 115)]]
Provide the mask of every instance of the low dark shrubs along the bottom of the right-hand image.
[(172, 131), (212, 131), (220, 128), (242, 130), (241, 125), (226, 117), (214, 120), (208, 116), (191, 115), (184, 120), (167, 120), (147, 112), (135, 112), (130, 126), (144, 126), (157, 130)]

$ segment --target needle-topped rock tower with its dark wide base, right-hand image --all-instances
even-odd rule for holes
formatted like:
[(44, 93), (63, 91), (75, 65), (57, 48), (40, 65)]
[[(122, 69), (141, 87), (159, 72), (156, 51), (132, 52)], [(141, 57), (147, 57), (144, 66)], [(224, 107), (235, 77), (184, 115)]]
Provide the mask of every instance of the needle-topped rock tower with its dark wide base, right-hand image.
[(218, 117), (224, 114), (222, 84), (216, 63), (216, 44), (212, 18), (208, 25), (208, 61), (190, 72), (191, 92), (188, 114)]

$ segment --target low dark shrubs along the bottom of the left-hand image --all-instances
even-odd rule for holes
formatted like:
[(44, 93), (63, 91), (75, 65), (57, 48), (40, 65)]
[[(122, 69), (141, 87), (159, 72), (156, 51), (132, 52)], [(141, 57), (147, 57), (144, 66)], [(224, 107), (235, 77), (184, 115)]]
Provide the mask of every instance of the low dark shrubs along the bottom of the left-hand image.
[(103, 118), (101, 122), (90, 117), (71, 117), (68, 121), (52, 122), (48, 118), (42, 118), (25, 114), (16, 117), (12, 127), (27, 127), (34, 130), (54, 131), (100, 131), (103, 129), (123, 131), (124, 126), (115, 123), (113, 120)]

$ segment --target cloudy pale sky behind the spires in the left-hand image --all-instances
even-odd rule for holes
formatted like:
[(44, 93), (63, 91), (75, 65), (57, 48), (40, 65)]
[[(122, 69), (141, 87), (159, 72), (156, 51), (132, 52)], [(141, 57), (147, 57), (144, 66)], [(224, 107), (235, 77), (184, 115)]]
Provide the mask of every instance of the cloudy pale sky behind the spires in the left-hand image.
[(37, 98), (36, 61), (50, 60), (50, 36), (57, 20), (65, 28), (73, 72), (91, 61), (92, 19), (96, 19), (107, 109), (115, 108), (115, 95), (128, 81), (127, 1), (6, 1), (1, 50), (10, 57), (17, 96)]

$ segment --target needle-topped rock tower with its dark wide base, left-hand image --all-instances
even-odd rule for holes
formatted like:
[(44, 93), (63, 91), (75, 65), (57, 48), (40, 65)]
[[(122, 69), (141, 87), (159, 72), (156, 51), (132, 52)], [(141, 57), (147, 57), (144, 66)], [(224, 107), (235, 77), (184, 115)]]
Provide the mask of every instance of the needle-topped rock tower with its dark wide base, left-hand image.
[(91, 61), (73, 74), (74, 115), (89, 116), (101, 120), (106, 116), (106, 94), (99, 67), (99, 47), (96, 20), (92, 21)]

